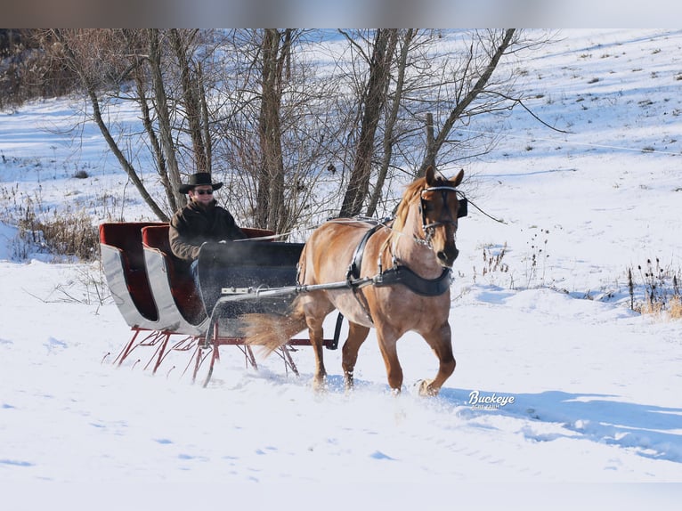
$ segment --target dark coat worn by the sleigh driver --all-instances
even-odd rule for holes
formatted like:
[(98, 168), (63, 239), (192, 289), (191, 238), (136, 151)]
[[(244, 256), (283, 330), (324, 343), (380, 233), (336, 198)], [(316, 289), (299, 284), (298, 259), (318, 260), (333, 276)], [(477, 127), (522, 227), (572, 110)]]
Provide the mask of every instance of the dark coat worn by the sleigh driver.
[(199, 247), (206, 241), (244, 239), (247, 235), (234, 222), (230, 212), (217, 206), (214, 200), (206, 208), (191, 201), (175, 213), (168, 238), (175, 256), (191, 262), (199, 257)]

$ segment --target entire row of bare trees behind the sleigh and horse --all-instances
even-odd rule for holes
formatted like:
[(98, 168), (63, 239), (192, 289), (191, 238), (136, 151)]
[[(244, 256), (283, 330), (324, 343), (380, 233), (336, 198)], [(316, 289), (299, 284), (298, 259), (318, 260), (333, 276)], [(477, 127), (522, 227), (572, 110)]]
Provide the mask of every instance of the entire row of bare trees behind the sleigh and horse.
[[(183, 174), (204, 171), (226, 183), (240, 223), (278, 232), (386, 213), (394, 180), (487, 150), (458, 126), (518, 104), (506, 64), (536, 43), (513, 28), (448, 33), (447, 45), (414, 28), (344, 32), (329, 45), (291, 28), (46, 33), (158, 218), (186, 200)], [(135, 101), (141, 126), (108, 122), (109, 100)], [(165, 198), (150, 193), (150, 170)]]

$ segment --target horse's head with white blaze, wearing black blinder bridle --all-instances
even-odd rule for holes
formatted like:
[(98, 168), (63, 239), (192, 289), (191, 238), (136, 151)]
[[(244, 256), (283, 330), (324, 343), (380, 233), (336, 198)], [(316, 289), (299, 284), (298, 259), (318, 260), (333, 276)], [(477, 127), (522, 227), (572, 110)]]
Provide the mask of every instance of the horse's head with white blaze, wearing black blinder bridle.
[(464, 171), (452, 179), (436, 178), (429, 166), (425, 185), (419, 192), (419, 213), (426, 243), (432, 247), (438, 262), (450, 268), (459, 255), (455, 244), (458, 219), (467, 215), (467, 199), (458, 199), (457, 186)]

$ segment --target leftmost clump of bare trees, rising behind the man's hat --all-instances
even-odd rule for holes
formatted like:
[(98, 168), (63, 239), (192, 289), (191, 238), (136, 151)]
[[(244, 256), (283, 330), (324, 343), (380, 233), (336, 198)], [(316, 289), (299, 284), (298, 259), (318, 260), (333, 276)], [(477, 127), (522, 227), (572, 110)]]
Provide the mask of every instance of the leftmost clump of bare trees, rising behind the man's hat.
[[(112, 154), (152, 212), (167, 220), (186, 201), (178, 191), (182, 174), (211, 172), (215, 111), (207, 94), (215, 91), (207, 87), (202, 62), (210, 55), (210, 39), (197, 29), (55, 29), (50, 34), (60, 42), (66, 65), (77, 72)], [(215, 64), (208, 61), (210, 72)], [(104, 82), (102, 69), (109, 74), (115, 69), (116, 76)], [(112, 89), (112, 83), (118, 88)], [(118, 133), (113, 133), (115, 125), (105, 121), (102, 111), (107, 99), (136, 102), (142, 132), (116, 126)], [(135, 154), (145, 146), (150, 158), (140, 159), (153, 162), (166, 191), (165, 206), (142, 179), (147, 167), (134, 165)], [(126, 153), (125, 147), (135, 149)]]

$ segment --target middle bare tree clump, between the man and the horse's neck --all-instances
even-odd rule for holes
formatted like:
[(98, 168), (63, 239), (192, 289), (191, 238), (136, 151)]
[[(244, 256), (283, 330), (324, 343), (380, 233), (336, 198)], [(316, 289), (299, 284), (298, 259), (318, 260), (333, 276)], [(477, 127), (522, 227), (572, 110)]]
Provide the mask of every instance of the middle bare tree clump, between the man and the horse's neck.
[(280, 233), (332, 215), (335, 177), (327, 169), (343, 159), (351, 115), (337, 80), (320, 76), (319, 41), (308, 36), (239, 30), (225, 47), (231, 114), (220, 122), (215, 158), (228, 169), (222, 175), (240, 198), (233, 204), (240, 216)]

